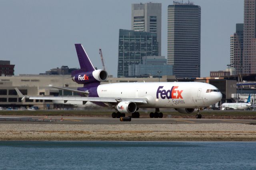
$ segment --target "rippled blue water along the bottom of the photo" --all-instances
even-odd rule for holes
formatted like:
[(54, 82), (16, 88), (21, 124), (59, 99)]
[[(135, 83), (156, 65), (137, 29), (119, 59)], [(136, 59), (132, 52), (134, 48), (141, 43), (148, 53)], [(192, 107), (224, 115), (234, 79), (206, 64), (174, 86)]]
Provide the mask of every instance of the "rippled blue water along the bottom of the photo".
[(0, 141), (0, 169), (256, 169), (256, 142)]

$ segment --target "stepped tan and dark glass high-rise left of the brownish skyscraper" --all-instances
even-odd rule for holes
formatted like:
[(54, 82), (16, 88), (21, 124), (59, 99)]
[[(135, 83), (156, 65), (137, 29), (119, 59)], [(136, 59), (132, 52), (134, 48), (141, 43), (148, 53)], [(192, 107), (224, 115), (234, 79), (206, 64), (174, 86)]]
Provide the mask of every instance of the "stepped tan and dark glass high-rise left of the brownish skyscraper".
[(244, 24), (236, 24), (236, 32), (230, 36), (230, 66), (240, 74), (243, 61)]

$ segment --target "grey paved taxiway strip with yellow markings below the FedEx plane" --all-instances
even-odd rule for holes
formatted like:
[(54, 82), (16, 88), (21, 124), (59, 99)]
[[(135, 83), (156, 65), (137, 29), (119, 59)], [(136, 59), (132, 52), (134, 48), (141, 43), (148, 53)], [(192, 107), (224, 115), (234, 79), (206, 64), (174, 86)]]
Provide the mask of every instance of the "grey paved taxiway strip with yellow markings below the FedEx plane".
[[(63, 121), (61, 121), (61, 119)], [(246, 119), (171, 119), (171, 118), (132, 118), (130, 122), (120, 122), (119, 119), (109, 117), (27, 117), (1, 116), (1, 123), (62, 123), (62, 124), (211, 124), (211, 123), (242, 123), (256, 125), (256, 120)]]

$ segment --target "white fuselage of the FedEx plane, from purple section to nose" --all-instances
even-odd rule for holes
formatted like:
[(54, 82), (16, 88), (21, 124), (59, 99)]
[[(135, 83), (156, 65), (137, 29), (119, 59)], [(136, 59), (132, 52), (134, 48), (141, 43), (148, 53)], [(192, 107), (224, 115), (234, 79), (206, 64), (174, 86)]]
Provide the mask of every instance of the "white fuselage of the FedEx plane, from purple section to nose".
[[(206, 93), (208, 89), (214, 91)], [(156, 82), (156, 83), (111, 83), (97, 88), (99, 97), (145, 98), (147, 104), (140, 108), (196, 108), (217, 103), (222, 94), (208, 83)]]

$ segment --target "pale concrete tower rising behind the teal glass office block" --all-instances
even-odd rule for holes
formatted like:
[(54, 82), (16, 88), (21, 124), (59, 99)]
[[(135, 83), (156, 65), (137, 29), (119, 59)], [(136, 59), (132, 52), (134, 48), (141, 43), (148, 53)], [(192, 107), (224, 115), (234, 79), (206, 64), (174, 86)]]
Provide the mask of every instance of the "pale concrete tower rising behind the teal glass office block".
[(132, 4), (132, 30), (157, 34), (158, 56), (161, 55), (162, 4)]

